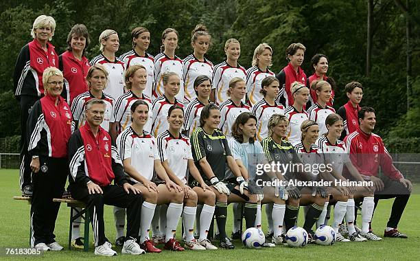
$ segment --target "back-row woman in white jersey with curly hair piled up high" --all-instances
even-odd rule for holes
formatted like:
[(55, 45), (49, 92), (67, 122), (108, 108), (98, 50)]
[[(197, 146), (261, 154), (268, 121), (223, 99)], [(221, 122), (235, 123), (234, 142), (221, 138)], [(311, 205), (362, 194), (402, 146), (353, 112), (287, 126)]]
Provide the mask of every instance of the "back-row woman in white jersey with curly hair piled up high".
[(191, 46), (194, 49), (194, 53), (183, 60), (185, 106), (197, 96), (194, 91), (194, 80), (200, 75), (205, 75), (209, 78), (213, 75), (213, 63), (205, 58), (205, 54), (209, 51), (210, 43), (211, 35), (207, 27), (202, 24), (196, 25), (191, 32)]

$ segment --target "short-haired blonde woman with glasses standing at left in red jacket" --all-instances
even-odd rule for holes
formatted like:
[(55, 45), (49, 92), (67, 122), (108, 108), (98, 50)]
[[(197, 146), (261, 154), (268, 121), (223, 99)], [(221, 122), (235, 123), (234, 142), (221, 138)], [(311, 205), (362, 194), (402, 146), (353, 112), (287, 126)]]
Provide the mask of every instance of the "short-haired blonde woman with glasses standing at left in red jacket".
[(59, 69), (45, 69), (45, 96), (35, 102), (27, 120), (27, 152), (32, 157), (34, 184), (31, 245), (41, 251), (62, 250), (54, 240), (60, 203), (54, 203), (53, 198), (60, 198), (65, 189), (69, 174), (67, 144), (73, 129), (69, 104), (60, 96), (63, 84)]

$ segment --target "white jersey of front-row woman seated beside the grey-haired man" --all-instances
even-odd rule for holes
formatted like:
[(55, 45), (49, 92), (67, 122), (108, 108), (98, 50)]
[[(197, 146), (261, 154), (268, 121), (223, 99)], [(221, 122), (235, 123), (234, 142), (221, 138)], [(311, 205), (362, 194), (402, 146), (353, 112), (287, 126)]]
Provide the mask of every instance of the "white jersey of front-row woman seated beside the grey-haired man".
[[(135, 133), (132, 128), (126, 128), (117, 137), (117, 150), (121, 159), (131, 158), (131, 166), (145, 179), (151, 181), (154, 174), (154, 160), (160, 159), (156, 139), (147, 131), (141, 135)], [(132, 179), (132, 181), (136, 181)]]

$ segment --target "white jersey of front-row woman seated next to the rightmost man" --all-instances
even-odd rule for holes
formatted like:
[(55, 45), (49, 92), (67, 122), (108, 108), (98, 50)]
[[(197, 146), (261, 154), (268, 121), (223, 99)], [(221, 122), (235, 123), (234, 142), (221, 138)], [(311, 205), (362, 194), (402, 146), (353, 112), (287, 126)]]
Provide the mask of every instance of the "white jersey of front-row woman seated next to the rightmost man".
[(342, 174), (344, 164), (351, 161), (347, 154), (346, 144), (340, 140), (337, 140), (336, 144), (331, 144), (326, 136), (320, 137), (316, 144), (323, 153), (325, 161), (331, 163), (338, 174)]

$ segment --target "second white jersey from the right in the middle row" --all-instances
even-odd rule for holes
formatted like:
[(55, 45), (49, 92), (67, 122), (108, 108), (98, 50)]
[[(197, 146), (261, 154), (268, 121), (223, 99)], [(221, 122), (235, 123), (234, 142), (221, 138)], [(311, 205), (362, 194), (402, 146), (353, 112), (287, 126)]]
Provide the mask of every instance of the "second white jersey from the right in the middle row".
[(289, 120), (286, 137), (288, 138), (288, 141), (295, 146), (301, 142), (301, 125), (305, 120), (309, 120), (309, 115), (305, 110), (302, 110), (302, 112), (299, 113), (299, 111), (294, 109), (294, 106), (288, 106), (288, 108), (284, 110), (284, 115)]

